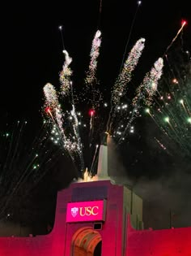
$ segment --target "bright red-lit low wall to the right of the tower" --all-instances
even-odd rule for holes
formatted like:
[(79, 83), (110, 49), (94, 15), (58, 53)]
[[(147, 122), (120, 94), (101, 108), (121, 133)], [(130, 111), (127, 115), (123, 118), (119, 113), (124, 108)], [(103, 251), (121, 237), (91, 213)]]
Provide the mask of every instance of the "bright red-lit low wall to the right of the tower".
[(136, 231), (128, 223), (125, 256), (191, 256), (191, 228)]

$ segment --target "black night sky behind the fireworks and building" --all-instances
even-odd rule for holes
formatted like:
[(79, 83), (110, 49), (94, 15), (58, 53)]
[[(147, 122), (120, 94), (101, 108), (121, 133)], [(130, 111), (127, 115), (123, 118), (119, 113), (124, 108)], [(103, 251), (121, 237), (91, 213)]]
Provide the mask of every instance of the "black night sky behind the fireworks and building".
[[(191, 50), (189, 1), (147, 0), (142, 1), (138, 8), (137, 1), (103, 0), (101, 15), (99, 8), (98, 0), (46, 2), (45, 5), (16, 2), (6, 3), (2, 8), (0, 125), (4, 128), (18, 119), (28, 120), (28, 135), (21, 145), (28, 145), (28, 140), (38, 134), (42, 125), (44, 85), (49, 82), (59, 87), (58, 74), (64, 62), (59, 25), (63, 26), (64, 46), (73, 58), (71, 68), (77, 92), (83, 87), (91, 41), (99, 26), (102, 46), (97, 76), (106, 102), (120, 71), (128, 38), (127, 53), (140, 37), (146, 38), (146, 47), (131, 84), (132, 92), (155, 60), (163, 56), (184, 19), (188, 24), (181, 33), (181, 39), (184, 49)], [(182, 43), (180, 37), (176, 41), (177, 44)], [(134, 135), (116, 151), (113, 150), (114, 166), (117, 166), (118, 174), (121, 173), (118, 179), (125, 180), (144, 199), (145, 227), (168, 228), (170, 210), (176, 215), (174, 227), (191, 226), (189, 155), (182, 154), (178, 147), (176, 150), (176, 145), (161, 134), (151, 119), (138, 119), (134, 127)], [(157, 136), (175, 150), (171, 154), (161, 150), (153, 140)], [(57, 149), (53, 147), (52, 150)], [(65, 188), (76, 176), (77, 171), (70, 159), (58, 153), (53, 167), (45, 171), (37, 184), (30, 187), (30, 180), (23, 184), (19, 193), (24, 196), (20, 197), (19, 204), (16, 196), (11, 200), (8, 208), (11, 210), (10, 221), (26, 225), (35, 222), (34, 232), (39, 226), (43, 226), (40, 232), (44, 232), (48, 223), (53, 224), (57, 190)], [(31, 188), (30, 193), (25, 194), (28, 187)]]

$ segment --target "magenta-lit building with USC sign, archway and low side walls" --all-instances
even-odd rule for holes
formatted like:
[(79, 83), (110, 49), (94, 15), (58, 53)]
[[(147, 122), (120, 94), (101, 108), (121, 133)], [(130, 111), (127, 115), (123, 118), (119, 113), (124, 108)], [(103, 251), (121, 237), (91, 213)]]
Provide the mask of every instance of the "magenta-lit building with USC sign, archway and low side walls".
[(144, 230), (142, 199), (110, 180), (70, 184), (57, 193), (53, 230), (0, 237), (1, 256), (191, 256), (191, 227)]

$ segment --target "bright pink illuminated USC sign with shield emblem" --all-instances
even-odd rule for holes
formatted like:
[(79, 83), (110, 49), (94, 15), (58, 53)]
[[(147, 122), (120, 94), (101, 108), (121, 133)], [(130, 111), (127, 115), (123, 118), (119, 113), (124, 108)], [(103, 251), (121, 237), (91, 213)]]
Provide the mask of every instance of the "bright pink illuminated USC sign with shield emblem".
[(106, 201), (69, 202), (66, 222), (85, 222), (105, 220)]

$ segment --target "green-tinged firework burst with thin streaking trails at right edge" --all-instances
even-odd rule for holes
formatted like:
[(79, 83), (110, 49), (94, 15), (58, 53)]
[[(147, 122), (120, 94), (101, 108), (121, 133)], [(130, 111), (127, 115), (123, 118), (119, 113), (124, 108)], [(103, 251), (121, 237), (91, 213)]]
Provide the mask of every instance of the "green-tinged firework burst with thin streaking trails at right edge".
[[(160, 82), (155, 104), (150, 116), (163, 133), (178, 145), (182, 152), (190, 154), (191, 150), (191, 62), (184, 60), (182, 54), (179, 62), (171, 57), (171, 72), (165, 72)], [(185, 54), (186, 55), (186, 54)], [(173, 75), (172, 75), (173, 74)], [(173, 77), (176, 74), (176, 77)]]

